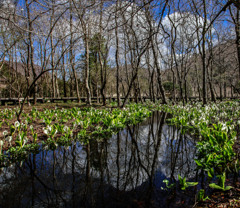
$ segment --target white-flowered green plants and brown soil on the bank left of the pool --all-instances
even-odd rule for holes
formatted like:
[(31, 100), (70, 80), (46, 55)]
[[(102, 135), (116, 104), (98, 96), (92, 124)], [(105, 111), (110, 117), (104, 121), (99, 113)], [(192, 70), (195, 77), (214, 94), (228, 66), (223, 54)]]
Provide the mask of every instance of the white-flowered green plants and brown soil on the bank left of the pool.
[(55, 149), (58, 145), (69, 145), (73, 139), (88, 143), (91, 139), (108, 138), (126, 125), (134, 125), (151, 115), (151, 110), (141, 104), (130, 104), (124, 109), (32, 108), (22, 113), (19, 122), (18, 110), (0, 111), (1, 166), (38, 151), (40, 145)]

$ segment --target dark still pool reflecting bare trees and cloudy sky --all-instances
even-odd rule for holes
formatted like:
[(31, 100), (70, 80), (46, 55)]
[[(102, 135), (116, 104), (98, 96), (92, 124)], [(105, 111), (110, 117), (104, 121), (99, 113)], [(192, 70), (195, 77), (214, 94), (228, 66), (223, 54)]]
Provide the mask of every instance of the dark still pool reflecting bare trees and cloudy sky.
[(194, 188), (161, 190), (177, 175), (194, 180), (195, 144), (166, 114), (104, 142), (45, 150), (0, 172), (0, 207), (191, 207)]

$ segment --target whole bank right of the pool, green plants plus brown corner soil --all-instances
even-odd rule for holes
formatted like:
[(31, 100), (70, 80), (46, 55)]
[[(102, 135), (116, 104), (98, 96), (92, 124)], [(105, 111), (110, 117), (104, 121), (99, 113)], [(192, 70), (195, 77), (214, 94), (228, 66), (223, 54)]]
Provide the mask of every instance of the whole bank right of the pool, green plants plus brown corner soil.
[[(239, 102), (228, 101), (202, 106), (162, 105), (159, 110), (169, 112), (170, 125), (177, 125), (182, 133), (188, 132), (197, 138), (195, 162), (207, 184), (197, 195), (199, 207), (239, 207)], [(233, 186), (227, 185), (231, 175)], [(216, 180), (217, 179), (217, 180)], [(213, 194), (205, 196), (207, 189)], [(206, 190), (205, 190), (206, 189)]]

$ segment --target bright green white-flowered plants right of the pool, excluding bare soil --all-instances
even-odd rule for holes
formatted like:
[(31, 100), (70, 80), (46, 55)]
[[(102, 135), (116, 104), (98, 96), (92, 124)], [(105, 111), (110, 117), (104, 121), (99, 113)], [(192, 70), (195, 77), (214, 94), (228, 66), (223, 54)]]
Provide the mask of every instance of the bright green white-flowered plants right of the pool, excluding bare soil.
[[(168, 119), (170, 125), (179, 126), (182, 133), (189, 132), (197, 138), (197, 168), (207, 174), (209, 181), (215, 176), (218, 178), (209, 187), (219, 191), (230, 190), (232, 187), (225, 185), (227, 172), (239, 170), (236, 167), (239, 162), (233, 150), (236, 129), (240, 125), (239, 103), (228, 101), (204, 107), (201, 103), (162, 105), (158, 109), (171, 114)], [(201, 192), (199, 198), (206, 199), (202, 193), (204, 192)]]

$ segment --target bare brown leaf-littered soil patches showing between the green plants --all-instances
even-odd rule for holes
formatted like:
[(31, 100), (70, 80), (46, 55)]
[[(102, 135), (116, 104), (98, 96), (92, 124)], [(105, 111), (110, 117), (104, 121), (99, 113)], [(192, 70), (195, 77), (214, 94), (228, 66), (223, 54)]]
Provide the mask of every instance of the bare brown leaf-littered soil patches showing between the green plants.
[[(89, 107), (86, 104), (79, 104), (79, 103), (45, 103), (45, 104), (37, 104), (34, 106), (24, 106), (24, 113), (29, 114), (33, 107), (38, 111), (43, 111), (44, 109), (55, 109), (55, 108), (85, 108)], [(115, 108), (111, 105), (102, 106), (100, 104), (93, 104), (91, 107), (96, 109), (106, 109), (106, 108)], [(16, 106), (0, 106), (0, 109), (14, 109)], [(17, 121), (16, 116), (14, 116), (12, 119), (10, 119), (8, 122), (11, 125), (14, 125), (14, 123)], [(52, 123), (54, 124), (54, 122)], [(43, 123), (41, 120), (33, 121), (33, 123), (29, 124), (32, 125), (34, 128), (34, 131), (38, 134), (38, 142), (45, 141), (48, 137), (43, 133), (43, 128), (46, 127), (45, 123)], [(71, 121), (68, 121), (66, 123), (67, 126), (71, 126)], [(3, 139), (3, 132), (9, 130), (9, 126), (4, 123), (0, 130), (0, 139)], [(78, 129), (75, 130), (76, 133)], [(60, 136), (56, 135), (56, 136)], [(29, 143), (32, 142), (32, 137), (30, 132), (28, 132), (27, 137), (29, 138)], [(15, 145), (15, 142), (12, 141), (12, 145)], [(3, 146), (3, 150), (8, 149), (9, 146)], [(236, 152), (236, 155), (238, 158), (240, 158), (240, 129), (237, 129), (237, 140), (234, 145), (234, 150)], [(240, 207), (240, 178), (239, 177), (230, 177), (226, 181), (226, 185), (230, 185), (233, 188), (229, 191), (222, 192), (222, 191), (212, 191), (211, 195), (208, 196), (210, 199), (206, 200), (205, 202), (198, 202), (194, 207), (217, 207), (217, 208), (227, 208), (227, 207)]]

